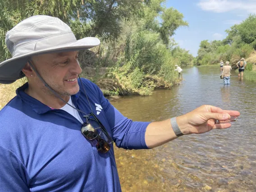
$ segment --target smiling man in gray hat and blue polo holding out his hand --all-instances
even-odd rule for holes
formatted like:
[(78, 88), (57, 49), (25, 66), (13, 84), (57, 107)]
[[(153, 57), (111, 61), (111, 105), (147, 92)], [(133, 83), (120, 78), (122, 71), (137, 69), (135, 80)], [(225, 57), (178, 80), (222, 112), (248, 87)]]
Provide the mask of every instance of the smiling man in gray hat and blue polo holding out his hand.
[(127, 119), (96, 84), (78, 79), (78, 50), (100, 41), (77, 41), (58, 18), (27, 18), (7, 32), (6, 43), (13, 58), (0, 63), (0, 82), (24, 76), (28, 82), (0, 111), (3, 192), (120, 192), (112, 140), (125, 149), (153, 148), (182, 135), (229, 128), (221, 121), (240, 114), (203, 105), (161, 122)]

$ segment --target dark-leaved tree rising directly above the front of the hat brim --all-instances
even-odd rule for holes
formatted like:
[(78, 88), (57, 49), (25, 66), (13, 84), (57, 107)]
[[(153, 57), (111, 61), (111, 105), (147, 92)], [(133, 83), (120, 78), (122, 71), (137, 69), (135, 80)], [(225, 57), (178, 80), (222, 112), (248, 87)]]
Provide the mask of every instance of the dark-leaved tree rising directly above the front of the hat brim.
[(81, 23), (90, 23), (87, 36), (116, 39), (121, 22), (143, 12), (142, 0), (97, 0), (79, 7)]

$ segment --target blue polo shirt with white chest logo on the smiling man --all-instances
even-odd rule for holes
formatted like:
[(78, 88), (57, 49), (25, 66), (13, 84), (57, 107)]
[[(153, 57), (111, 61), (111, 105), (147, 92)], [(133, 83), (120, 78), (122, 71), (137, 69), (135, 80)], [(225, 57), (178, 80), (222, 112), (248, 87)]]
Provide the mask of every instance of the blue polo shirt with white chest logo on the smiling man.
[[(71, 96), (79, 110), (89, 114), (81, 82)], [(133, 122), (105, 99), (99, 87), (82, 78), (93, 113), (125, 149), (147, 149), (146, 127), (150, 122)], [(97, 151), (81, 133), (82, 123), (64, 110), (51, 109), (27, 95), (24, 84), (0, 110), (1, 192), (120, 192), (114, 149)], [(102, 110), (97, 114), (97, 106)], [(84, 114), (79, 112), (82, 120)]]

